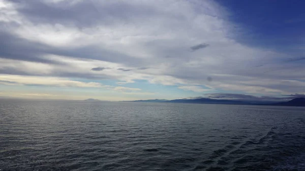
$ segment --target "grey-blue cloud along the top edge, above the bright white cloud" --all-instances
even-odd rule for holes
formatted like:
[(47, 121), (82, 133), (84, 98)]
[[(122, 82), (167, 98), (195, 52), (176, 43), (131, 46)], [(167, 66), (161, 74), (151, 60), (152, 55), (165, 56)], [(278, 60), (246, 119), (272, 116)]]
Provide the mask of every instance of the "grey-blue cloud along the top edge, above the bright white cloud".
[(143, 3), (100, 3), (97, 0), (74, 3), (70, 1), (46, 3), (40, 0), (12, 2), (18, 6), (17, 10), (20, 14), (34, 23), (73, 24), (78, 28), (127, 22), (133, 20), (134, 16), (145, 19), (157, 13), (155, 8)]

